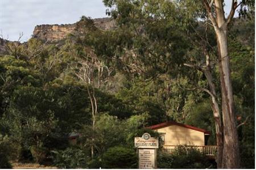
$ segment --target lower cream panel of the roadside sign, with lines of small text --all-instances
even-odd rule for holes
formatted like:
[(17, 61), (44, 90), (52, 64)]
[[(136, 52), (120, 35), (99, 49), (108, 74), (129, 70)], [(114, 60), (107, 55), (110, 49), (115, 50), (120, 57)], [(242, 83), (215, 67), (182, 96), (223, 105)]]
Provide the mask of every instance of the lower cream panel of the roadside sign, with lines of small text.
[(155, 168), (156, 150), (139, 149), (139, 169)]

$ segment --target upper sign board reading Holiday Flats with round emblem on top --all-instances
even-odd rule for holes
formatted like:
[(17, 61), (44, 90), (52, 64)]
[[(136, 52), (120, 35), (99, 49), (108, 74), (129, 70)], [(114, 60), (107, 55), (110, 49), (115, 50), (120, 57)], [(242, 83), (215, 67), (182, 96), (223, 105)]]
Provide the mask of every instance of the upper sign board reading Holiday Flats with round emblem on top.
[(142, 137), (134, 138), (134, 145), (137, 148), (158, 148), (158, 138), (152, 138), (150, 134), (144, 133)]

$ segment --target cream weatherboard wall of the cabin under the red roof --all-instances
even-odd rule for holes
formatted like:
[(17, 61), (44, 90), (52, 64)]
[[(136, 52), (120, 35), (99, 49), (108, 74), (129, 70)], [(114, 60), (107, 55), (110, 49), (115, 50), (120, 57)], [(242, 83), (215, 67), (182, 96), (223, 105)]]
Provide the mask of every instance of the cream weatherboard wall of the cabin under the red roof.
[(184, 128), (182, 126), (170, 125), (165, 128), (156, 129), (164, 133), (164, 145), (196, 145), (204, 146), (204, 132)]

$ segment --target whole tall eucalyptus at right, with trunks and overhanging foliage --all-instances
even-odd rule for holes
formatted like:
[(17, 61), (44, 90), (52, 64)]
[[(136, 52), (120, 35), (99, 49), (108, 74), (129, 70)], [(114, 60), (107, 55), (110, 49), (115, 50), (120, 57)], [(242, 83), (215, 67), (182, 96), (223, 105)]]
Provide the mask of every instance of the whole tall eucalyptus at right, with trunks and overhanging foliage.
[[(164, 0), (104, 0), (108, 14), (117, 21), (119, 28), (133, 31), (129, 39), (130, 45), (124, 49), (130, 50), (134, 62), (142, 73), (153, 73), (154, 77), (159, 74), (170, 75), (182, 72), (180, 65), (195, 67), (207, 78), (208, 92), (212, 102), (213, 116), (216, 125), (216, 138), (218, 145), (218, 168), (239, 168), (240, 154), (236, 118), (234, 111), (232, 83), (230, 79), (229, 53), (228, 53), (228, 27), (232, 22), (235, 11), (240, 6), (240, 14), (245, 14), (246, 6), (254, 6), (253, 1), (232, 1), (232, 8), (225, 16), (224, 1), (222, 0), (197, 0), (197, 1), (164, 1)], [(199, 58), (196, 64), (191, 64), (191, 58), (187, 58), (189, 35), (193, 23), (206, 23), (212, 25), (217, 43), (217, 54), (209, 50), (210, 44), (199, 47), (204, 59)], [(209, 30), (209, 29), (208, 29)], [(204, 29), (200, 34), (208, 32)], [(207, 34), (207, 33), (206, 33)], [(207, 42), (208, 37), (203, 37)], [(188, 40), (186, 42), (186, 40)], [(212, 48), (212, 47), (211, 47)], [(212, 48), (214, 49), (215, 46)], [(220, 72), (221, 97), (217, 96), (216, 83), (214, 83), (213, 66), (210, 56), (215, 55), (213, 60), (218, 65)], [(201, 64), (201, 62), (204, 62)], [(188, 62), (188, 63), (187, 63)], [(152, 75), (152, 74), (151, 74)], [(170, 77), (170, 76), (169, 76)], [(221, 102), (221, 104), (219, 104)]]

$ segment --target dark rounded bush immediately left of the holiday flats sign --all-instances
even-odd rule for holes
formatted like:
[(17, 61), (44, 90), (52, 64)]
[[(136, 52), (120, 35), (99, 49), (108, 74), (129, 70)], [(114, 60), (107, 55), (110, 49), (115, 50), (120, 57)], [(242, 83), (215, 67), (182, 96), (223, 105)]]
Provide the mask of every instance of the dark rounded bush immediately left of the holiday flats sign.
[(135, 150), (122, 146), (109, 148), (102, 156), (102, 168), (134, 169), (137, 168), (137, 153)]

